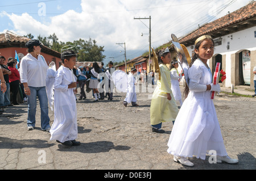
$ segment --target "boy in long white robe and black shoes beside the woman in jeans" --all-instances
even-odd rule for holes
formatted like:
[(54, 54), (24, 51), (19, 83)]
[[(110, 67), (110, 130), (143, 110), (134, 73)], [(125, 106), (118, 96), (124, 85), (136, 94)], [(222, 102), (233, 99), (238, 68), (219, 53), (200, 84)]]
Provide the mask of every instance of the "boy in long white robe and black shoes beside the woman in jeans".
[(50, 140), (65, 146), (78, 146), (77, 111), (74, 90), (76, 89), (73, 66), (76, 64), (76, 53), (67, 50), (61, 53), (62, 64), (55, 73), (54, 85), (54, 121), (50, 129)]

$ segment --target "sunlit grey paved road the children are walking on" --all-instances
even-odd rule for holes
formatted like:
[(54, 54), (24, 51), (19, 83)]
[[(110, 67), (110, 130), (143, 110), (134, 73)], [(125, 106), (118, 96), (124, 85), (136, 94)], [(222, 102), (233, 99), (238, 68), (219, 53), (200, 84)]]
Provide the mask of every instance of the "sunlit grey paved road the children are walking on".
[[(183, 87), (181, 87), (182, 89)], [(251, 94), (251, 92), (249, 92)], [(92, 102), (92, 92), (77, 101), (80, 146), (67, 147), (49, 141), (40, 129), (27, 131), (27, 104), (6, 108), (0, 115), (0, 169), (98, 169), (98, 170), (200, 170), (256, 169), (256, 98), (221, 93), (214, 99), (226, 150), (236, 165), (209, 163), (192, 158), (194, 167), (182, 166), (167, 153), (172, 123), (163, 123), (166, 133), (152, 133), (150, 93), (138, 93), (139, 107), (123, 107), (124, 93), (114, 93), (112, 102)], [(49, 110), (51, 124), (53, 112)]]

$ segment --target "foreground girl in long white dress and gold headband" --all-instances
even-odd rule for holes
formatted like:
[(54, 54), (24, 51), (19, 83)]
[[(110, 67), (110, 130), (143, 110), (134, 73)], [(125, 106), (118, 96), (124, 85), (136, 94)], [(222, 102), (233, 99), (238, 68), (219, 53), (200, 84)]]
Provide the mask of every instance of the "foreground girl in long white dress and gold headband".
[(207, 60), (213, 56), (214, 43), (210, 36), (195, 42), (195, 55), (188, 70), (189, 93), (176, 117), (167, 152), (174, 161), (193, 166), (186, 157), (205, 159), (210, 150), (216, 151), (216, 161), (237, 163), (226, 153), (211, 91), (220, 92), (220, 85), (212, 84), (212, 73)]

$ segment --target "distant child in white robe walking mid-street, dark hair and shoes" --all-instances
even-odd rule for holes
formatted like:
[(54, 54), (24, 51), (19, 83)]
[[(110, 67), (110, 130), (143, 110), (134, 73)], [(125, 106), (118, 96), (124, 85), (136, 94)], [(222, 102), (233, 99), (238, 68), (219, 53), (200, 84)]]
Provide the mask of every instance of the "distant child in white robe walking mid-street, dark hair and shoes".
[(126, 98), (125, 100), (123, 100), (123, 105), (126, 107), (127, 104), (131, 103), (131, 106), (139, 106), (136, 102), (137, 102), (137, 95), (135, 92), (135, 78), (134, 78), (134, 74), (137, 72), (137, 69), (135, 69), (135, 67), (133, 67), (131, 69), (131, 72), (128, 75), (127, 78), (127, 94), (126, 94)]

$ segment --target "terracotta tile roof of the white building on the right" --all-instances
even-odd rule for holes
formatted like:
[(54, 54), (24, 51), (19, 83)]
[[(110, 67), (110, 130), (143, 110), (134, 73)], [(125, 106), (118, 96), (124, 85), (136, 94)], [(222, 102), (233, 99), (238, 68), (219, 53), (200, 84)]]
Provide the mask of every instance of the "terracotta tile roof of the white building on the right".
[[(205, 24), (196, 31), (179, 39), (180, 44), (191, 45), (192, 42), (203, 35), (212, 35), (213, 38), (227, 35), (232, 32), (240, 31), (246, 28), (247, 21), (250, 21), (250, 27), (256, 25), (256, 2), (252, 1), (248, 5), (243, 6), (230, 14), (222, 16), (213, 22)], [(243, 24), (245, 22), (245, 24)], [(239, 26), (236, 26), (239, 25)], [(248, 28), (248, 26), (247, 26)]]

